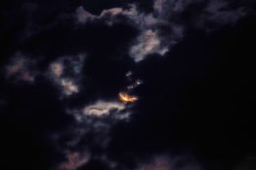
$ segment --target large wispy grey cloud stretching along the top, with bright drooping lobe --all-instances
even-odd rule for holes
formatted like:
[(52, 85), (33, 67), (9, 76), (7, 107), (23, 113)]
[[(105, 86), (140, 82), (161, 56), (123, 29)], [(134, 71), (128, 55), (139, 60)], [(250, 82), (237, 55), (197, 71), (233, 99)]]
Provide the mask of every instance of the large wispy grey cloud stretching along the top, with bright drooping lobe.
[[(226, 24), (234, 24), (246, 15), (246, 7), (233, 8), (230, 4), (225, 0), (155, 0), (153, 11), (149, 14), (139, 11), (136, 5), (132, 4), (127, 9), (116, 7), (103, 10), (100, 16), (94, 16), (79, 7), (76, 10), (76, 19), (79, 23), (97, 19), (112, 25), (125, 20), (120, 20), (119, 16), (126, 17), (126, 22), (141, 32), (129, 51), (130, 56), (140, 62), (150, 54), (162, 56), (170, 51), (190, 28), (209, 32)], [(188, 15), (189, 17), (186, 17)], [(162, 27), (169, 31), (162, 31)]]

